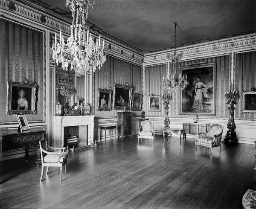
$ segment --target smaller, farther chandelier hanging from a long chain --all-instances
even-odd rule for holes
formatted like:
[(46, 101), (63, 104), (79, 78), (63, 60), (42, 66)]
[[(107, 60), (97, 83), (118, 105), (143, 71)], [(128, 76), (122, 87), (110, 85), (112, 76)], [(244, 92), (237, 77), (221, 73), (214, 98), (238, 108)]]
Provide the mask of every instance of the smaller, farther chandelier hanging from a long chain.
[(189, 84), (187, 81), (187, 75), (180, 72), (180, 59), (181, 54), (176, 53), (176, 25), (175, 25), (175, 42), (174, 42), (174, 54), (169, 54), (170, 68), (167, 70), (166, 78), (163, 77), (163, 86), (165, 88), (165, 93), (171, 90), (176, 92), (177, 90), (183, 90)]

